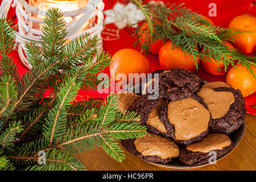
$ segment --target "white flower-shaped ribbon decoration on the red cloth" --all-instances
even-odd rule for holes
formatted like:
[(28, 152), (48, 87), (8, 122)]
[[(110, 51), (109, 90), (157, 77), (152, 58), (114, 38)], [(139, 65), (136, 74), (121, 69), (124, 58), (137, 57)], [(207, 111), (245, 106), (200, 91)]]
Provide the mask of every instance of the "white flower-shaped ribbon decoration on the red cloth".
[(136, 28), (137, 24), (135, 23), (145, 18), (142, 11), (138, 10), (134, 3), (127, 5), (116, 3), (112, 10), (106, 10), (104, 14), (106, 15), (104, 23), (114, 23), (119, 29), (125, 28), (127, 25), (133, 25)]

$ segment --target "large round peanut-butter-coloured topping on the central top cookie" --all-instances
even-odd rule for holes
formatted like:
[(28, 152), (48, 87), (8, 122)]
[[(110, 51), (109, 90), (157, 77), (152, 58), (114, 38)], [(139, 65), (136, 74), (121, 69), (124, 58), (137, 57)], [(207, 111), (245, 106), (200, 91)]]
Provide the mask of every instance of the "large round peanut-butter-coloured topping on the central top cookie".
[(209, 110), (193, 98), (170, 102), (167, 114), (177, 140), (189, 140), (208, 129)]

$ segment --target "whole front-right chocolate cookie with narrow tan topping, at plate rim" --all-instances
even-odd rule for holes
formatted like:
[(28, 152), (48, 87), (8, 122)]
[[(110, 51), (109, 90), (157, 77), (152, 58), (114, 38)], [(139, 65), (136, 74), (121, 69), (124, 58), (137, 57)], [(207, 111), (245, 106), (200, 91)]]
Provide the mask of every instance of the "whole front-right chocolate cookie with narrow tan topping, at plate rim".
[(200, 166), (228, 154), (233, 148), (234, 143), (227, 135), (209, 134), (201, 142), (181, 147), (179, 159), (184, 164)]

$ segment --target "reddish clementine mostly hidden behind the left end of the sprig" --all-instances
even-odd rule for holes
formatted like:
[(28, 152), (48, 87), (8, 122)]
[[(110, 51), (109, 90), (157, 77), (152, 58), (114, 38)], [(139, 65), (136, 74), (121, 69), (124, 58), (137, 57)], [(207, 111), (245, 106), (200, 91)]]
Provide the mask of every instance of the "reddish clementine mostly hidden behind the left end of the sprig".
[[(153, 30), (153, 33), (154, 32), (155, 31)], [(141, 43), (141, 44), (144, 42), (145, 36), (149, 35), (149, 37), (146, 37), (146, 41), (151, 39), (147, 22), (143, 23), (143, 25), (141, 26), (139, 35), (141, 35), (141, 37), (139, 38), (139, 43)], [(162, 41), (162, 39), (156, 40), (156, 42), (154, 44), (151, 43), (150, 46), (151, 46), (150, 52), (154, 55), (158, 55), (160, 48), (163, 46), (163, 41)]]

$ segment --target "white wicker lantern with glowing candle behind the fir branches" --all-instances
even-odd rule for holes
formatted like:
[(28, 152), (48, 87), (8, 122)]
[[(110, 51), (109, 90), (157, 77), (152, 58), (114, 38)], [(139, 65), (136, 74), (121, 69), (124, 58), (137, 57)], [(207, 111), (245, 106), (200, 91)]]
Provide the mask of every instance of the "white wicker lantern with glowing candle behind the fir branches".
[[(20, 60), (31, 69), (24, 55), (24, 43), (34, 40), (42, 43), (42, 24), (47, 9), (58, 7), (64, 14), (67, 23), (67, 39), (74, 39), (82, 34), (98, 35), (101, 38), (103, 29), (102, 0), (3, 0), (0, 7), (0, 16), (6, 16), (11, 2), (16, 6), (19, 32), (16, 32), (16, 42)], [(102, 41), (102, 39), (100, 39)], [(101, 44), (102, 46), (102, 44)]]

